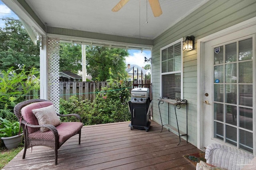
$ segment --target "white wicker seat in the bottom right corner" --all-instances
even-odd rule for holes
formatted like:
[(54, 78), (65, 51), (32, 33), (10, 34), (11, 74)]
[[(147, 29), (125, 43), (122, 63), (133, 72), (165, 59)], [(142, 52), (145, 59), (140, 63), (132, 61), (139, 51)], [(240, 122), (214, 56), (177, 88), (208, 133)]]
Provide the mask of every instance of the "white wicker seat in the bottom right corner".
[[(256, 169), (256, 163), (253, 162), (255, 158), (252, 154), (217, 143), (206, 147), (205, 158), (208, 165), (226, 170)], [(198, 163), (196, 170), (205, 170), (207, 168), (204, 167), (208, 165), (200, 166)]]

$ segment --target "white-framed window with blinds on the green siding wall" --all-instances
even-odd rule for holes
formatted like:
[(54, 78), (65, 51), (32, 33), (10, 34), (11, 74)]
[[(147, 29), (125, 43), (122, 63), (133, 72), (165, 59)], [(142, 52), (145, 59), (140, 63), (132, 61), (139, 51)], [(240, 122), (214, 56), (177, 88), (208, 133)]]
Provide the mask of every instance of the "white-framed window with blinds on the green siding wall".
[(162, 97), (182, 96), (182, 39), (160, 49)]

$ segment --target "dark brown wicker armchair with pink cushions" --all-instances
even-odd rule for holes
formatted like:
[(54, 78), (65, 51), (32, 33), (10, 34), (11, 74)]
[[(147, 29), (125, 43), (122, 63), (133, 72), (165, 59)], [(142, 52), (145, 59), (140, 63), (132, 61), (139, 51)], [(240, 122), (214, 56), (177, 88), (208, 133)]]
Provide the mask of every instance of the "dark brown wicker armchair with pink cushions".
[[(25, 146), (22, 159), (26, 156), (27, 148), (33, 146), (46, 146), (54, 149), (55, 164), (58, 163), (58, 149), (70, 137), (79, 134), (79, 144), (81, 141), (82, 119), (77, 114), (68, 114), (58, 116), (75, 116), (79, 122), (62, 122), (60, 125), (54, 126), (50, 124), (39, 125), (37, 117), (34, 115), (32, 109), (39, 109), (52, 105), (43, 99), (32, 99), (21, 102), (14, 107), (14, 113), (20, 120), (20, 125), (23, 129)], [(54, 113), (55, 114), (55, 113)], [(55, 116), (55, 115), (54, 115)], [(46, 132), (42, 132), (40, 128), (46, 128)], [(48, 130), (50, 129), (50, 130)]]

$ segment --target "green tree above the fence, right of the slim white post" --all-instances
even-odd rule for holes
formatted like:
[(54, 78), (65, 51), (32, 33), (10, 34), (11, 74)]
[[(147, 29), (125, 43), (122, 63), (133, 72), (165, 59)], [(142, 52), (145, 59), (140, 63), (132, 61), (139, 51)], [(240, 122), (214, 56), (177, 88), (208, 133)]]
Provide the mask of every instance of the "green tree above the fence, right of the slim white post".
[[(106, 47), (86, 47), (86, 69), (92, 80), (105, 81), (111, 78), (118, 80), (119, 75), (127, 75), (125, 57), (129, 53), (125, 49), (109, 49)], [(109, 73), (111, 68), (112, 75)]]

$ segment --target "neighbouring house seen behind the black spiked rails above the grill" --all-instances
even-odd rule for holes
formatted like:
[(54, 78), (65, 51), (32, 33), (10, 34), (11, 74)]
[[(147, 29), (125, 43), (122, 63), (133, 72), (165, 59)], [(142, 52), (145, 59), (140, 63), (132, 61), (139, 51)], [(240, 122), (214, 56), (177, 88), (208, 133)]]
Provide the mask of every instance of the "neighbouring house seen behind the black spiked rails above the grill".
[[(143, 67), (138, 65), (127, 64), (126, 72), (128, 73), (128, 81), (144, 80), (147, 71), (148, 70), (145, 70)], [(143, 78), (141, 78), (141, 73)]]

